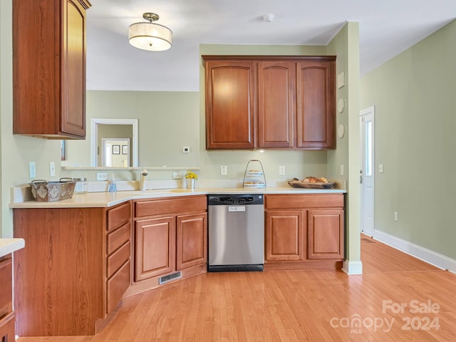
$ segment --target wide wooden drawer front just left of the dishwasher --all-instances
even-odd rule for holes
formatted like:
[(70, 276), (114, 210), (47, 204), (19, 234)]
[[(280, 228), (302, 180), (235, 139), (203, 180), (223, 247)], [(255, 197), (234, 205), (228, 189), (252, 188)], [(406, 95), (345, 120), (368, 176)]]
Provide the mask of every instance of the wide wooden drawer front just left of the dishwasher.
[(207, 199), (202, 196), (172, 197), (135, 202), (135, 217), (160, 214), (197, 212), (207, 209)]

